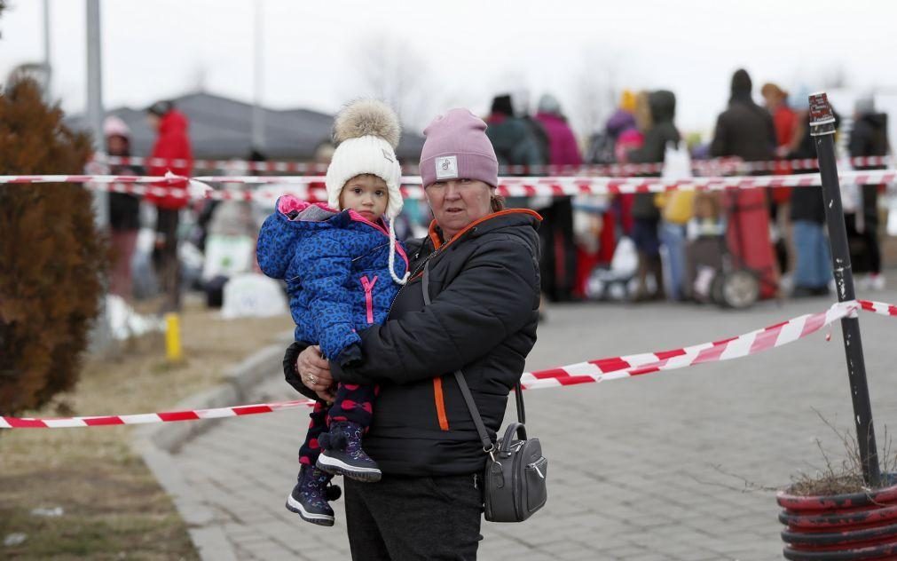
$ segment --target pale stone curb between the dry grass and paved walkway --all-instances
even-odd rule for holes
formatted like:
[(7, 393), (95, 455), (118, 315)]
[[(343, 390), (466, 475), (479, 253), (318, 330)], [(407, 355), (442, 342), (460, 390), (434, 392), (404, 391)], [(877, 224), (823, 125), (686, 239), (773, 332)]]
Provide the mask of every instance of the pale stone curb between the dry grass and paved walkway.
[[(176, 410), (220, 408), (242, 405), (249, 391), (272, 373), (283, 367), (283, 349), (292, 342), (292, 331), (278, 334), (272, 345), (249, 355), (231, 366), (224, 374), (225, 381), (209, 390), (181, 401)], [(136, 428), (131, 446), (144, 459), (146, 466), (168, 493), (178, 509), (199, 557), (215, 561), (237, 561), (230, 540), (222, 530), (221, 521), (196, 491), (187, 484), (171, 455), (185, 444), (225, 419), (204, 419), (181, 423), (143, 425)]]

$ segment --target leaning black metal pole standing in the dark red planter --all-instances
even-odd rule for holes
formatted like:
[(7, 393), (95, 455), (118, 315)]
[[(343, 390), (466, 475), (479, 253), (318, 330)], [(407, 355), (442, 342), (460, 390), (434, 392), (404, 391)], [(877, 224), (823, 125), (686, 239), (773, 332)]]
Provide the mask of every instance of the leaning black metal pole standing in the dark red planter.
[[(838, 302), (856, 299), (853, 272), (850, 269), (850, 251), (844, 211), (841, 208), (838, 167), (835, 164), (835, 118), (824, 92), (810, 95), (810, 135), (814, 137), (819, 158), (819, 173), (823, 180), (825, 222), (828, 224), (829, 245), (832, 248), (832, 267)], [(859, 457), (863, 464), (863, 480), (867, 486), (876, 487), (881, 480), (878, 467), (878, 451), (875, 447), (875, 427), (872, 424), (872, 405), (869, 403), (869, 387), (866, 381), (866, 363), (863, 359), (863, 341), (859, 337), (859, 320), (856, 316), (841, 320), (844, 337), (844, 355), (847, 357), (847, 374), (850, 397), (853, 399), (853, 418), (857, 425)]]

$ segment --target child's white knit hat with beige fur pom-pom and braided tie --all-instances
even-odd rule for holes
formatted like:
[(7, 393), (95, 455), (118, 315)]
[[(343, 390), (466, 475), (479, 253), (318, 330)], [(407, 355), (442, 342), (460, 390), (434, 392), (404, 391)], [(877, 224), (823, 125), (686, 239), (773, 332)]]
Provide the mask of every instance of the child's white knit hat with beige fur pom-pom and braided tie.
[(356, 175), (376, 175), (386, 181), (389, 202), (384, 217), (389, 223), (389, 273), (399, 284), (405, 277), (396, 276), (396, 231), (393, 223), (402, 212), (402, 168), (396, 158), (396, 146), (402, 136), (396, 112), (376, 100), (353, 101), (335, 118), (334, 142), (336, 149), (327, 167), (327, 204), (343, 210), (340, 194), (348, 180)]

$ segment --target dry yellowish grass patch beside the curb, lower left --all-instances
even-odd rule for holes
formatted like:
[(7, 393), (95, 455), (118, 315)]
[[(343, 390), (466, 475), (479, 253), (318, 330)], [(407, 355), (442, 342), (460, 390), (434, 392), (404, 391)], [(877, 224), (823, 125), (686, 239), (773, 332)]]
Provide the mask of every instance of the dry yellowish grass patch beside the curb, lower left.
[[(226, 368), (292, 328), (289, 316), (225, 321), (187, 306), (184, 356), (164, 360), (161, 335), (84, 364), (77, 388), (27, 416), (151, 413), (222, 381)], [(239, 405), (239, 404), (234, 404)], [(133, 428), (0, 431), (0, 558), (197, 559), (170, 497), (131, 450)], [(61, 516), (33, 509), (62, 507)], [(5, 537), (26, 534), (18, 545)]]

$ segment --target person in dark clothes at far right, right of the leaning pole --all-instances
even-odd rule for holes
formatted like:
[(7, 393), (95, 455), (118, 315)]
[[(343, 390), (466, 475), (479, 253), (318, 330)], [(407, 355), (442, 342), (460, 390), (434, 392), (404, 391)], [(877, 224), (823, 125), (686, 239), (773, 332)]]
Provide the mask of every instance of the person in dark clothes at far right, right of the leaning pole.
[[(875, 110), (875, 101), (862, 98), (857, 101), (853, 130), (850, 131), (851, 158), (884, 156), (890, 150), (888, 142), (888, 116)], [(884, 170), (884, 165), (856, 166), (857, 170)], [(862, 240), (865, 251), (854, 268), (867, 270), (869, 276), (860, 281), (861, 286), (872, 290), (884, 290), (882, 276), (882, 250), (878, 241), (878, 185), (864, 185), (860, 194), (862, 205), (856, 213), (844, 215), (848, 233)], [(858, 267), (859, 266), (859, 267)]]

